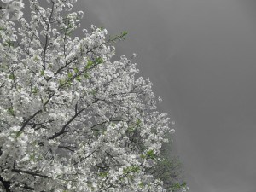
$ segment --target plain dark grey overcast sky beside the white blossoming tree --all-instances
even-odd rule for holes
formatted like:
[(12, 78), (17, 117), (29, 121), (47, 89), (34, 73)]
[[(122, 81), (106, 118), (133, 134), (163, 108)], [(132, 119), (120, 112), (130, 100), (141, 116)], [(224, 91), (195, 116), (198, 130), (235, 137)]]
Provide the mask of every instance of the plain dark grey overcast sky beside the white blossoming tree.
[(83, 25), (124, 30), (119, 55), (177, 122), (190, 192), (256, 191), (255, 0), (81, 0)]

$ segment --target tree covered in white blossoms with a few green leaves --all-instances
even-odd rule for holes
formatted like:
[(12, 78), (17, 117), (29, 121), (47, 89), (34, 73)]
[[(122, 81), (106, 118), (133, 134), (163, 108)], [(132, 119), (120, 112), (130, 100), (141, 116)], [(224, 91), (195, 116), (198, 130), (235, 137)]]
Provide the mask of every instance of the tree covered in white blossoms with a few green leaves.
[(73, 37), (75, 0), (29, 0), (27, 20), (1, 1), (0, 191), (167, 191), (152, 170), (169, 119), (132, 58), (111, 61), (126, 32)]

